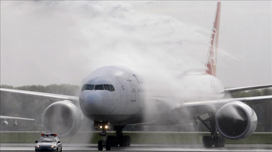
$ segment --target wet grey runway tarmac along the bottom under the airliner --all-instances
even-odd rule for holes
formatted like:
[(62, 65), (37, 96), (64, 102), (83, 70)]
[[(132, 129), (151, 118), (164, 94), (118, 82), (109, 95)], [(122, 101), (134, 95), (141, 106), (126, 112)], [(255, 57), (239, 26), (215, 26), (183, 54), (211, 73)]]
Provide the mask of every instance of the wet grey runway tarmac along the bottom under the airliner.
[[(62, 144), (63, 152), (99, 152), (97, 144)], [(0, 143), (1, 152), (34, 152), (33, 144)], [(103, 149), (105, 151), (105, 148)], [(130, 147), (112, 147), (111, 151), (119, 152), (272, 152), (271, 144), (228, 144), (222, 148), (204, 149), (201, 144), (131, 144)]]

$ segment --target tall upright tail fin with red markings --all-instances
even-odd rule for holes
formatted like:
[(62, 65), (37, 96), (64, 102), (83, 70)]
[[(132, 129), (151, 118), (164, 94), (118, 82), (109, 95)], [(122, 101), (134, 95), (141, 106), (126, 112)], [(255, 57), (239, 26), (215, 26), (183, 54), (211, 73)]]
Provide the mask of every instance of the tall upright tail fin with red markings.
[(221, 2), (217, 2), (205, 73), (216, 76)]

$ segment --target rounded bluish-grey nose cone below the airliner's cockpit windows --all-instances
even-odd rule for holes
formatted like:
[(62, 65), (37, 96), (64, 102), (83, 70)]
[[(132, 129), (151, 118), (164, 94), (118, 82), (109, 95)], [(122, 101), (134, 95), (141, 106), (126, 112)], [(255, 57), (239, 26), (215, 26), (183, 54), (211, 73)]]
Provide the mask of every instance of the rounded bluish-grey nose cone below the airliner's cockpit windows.
[(84, 96), (84, 105), (87, 111), (97, 111), (103, 104), (102, 95), (98, 92), (91, 91)]

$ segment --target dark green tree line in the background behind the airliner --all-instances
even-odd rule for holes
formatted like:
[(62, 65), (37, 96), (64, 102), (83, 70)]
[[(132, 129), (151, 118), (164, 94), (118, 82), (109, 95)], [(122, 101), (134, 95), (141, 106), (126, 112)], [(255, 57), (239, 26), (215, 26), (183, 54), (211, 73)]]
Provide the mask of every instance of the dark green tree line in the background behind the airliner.
[[(47, 86), (43, 85), (28, 85), (21, 87), (13, 87), (10, 85), (0, 85), (1, 88), (6, 89), (16, 89), (16, 90), (25, 90), (25, 91), (37, 91), (37, 92), (45, 92), (45, 93), (54, 93), (54, 94), (63, 94), (63, 95), (71, 95), (78, 96), (80, 92), (80, 88), (78, 85), (70, 85), (70, 84), (51, 84)], [(241, 91), (232, 93), (231, 96), (234, 98), (238, 97), (250, 97), (250, 96), (263, 96), (263, 95), (272, 95), (272, 89), (258, 89), (252, 91)], [(41, 124), (41, 118), (44, 110), (53, 103), (54, 101), (48, 99), (41, 99), (35, 97), (28, 97), (23, 95), (9, 94), (9, 93), (0, 93), (0, 115), (1, 116), (12, 116), (12, 117), (22, 117), (22, 118), (31, 118), (35, 119), (34, 122), (29, 121), (20, 121), (18, 122), (18, 128), (20, 129), (29, 129), (33, 131), (37, 131), (39, 128), (39, 124)], [(247, 103), (251, 106), (256, 115), (258, 117), (258, 125), (256, 132), (272, 132), (272, 100), (270, 101), (262, 101), (262, 102), (250, 102)], [(3, 120), (1, 120), (2, 122)], [(13, 121), (7, 120), (9, 122), (9, 126), (4, 128), (5, 130), (14, 130), (12, 127)], [(83, 122), (83, 130), (89, 131), (93, 130), (92, 122), (90, 120), (85, 120)], [(188, 127), (144, 127), (144, 130), (156, 130), (160, 131), (186, 131)], [(3, 127), (1, 126), (1, 130)], [(143, 128), (126, 127), (127, 130), (143, 130)], [(206, 130), (202, 130), (206, 131)]]

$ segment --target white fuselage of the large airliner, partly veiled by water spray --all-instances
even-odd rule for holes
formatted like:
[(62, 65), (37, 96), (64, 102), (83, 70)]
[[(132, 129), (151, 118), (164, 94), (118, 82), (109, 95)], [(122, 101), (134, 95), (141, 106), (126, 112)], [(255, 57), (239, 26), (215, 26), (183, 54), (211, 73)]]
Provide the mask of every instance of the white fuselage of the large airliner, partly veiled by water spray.
[[(223, 96), (222, 83), (204, 73), (184, 75), (178, 83), (181, 83), (178, 91), (181, 96), (169, 93), (172, 90), (152, 87), (128, 68), (106, 66), (83, 80), (80, 106), (85, 116), (93, 121), (108, 121), (113, 125), (151, 124), (163, 115), (167, 119), (167, 113), (176, 103)], [(169, 119), (166, 121), (159, 122), (163, 125), (171, 123)]]

